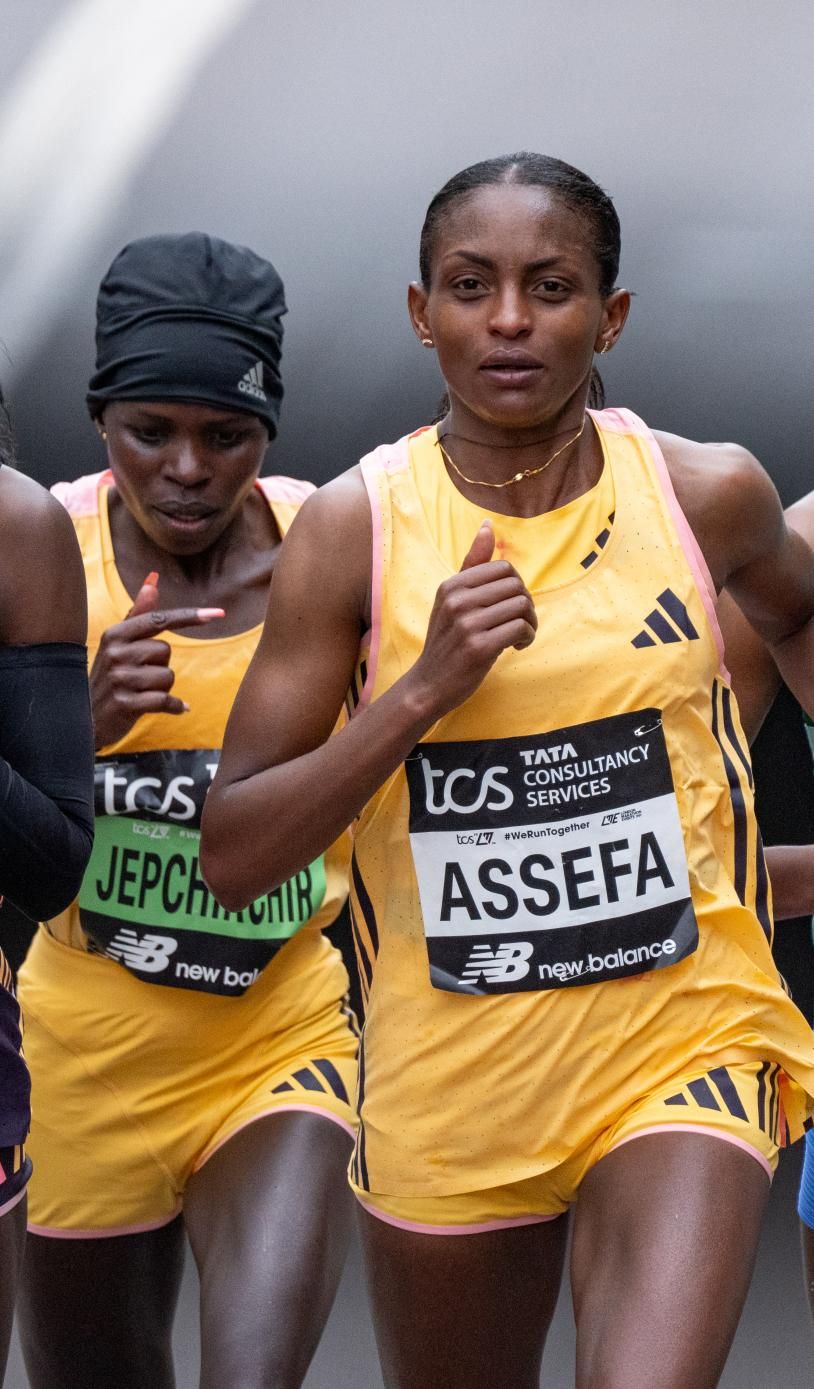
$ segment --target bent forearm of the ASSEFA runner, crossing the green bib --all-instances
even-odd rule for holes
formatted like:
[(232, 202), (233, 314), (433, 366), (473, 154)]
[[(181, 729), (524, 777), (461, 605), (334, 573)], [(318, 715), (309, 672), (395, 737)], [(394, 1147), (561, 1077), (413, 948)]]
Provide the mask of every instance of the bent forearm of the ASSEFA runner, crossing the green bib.
[(435, 718), (404, 678), (313, 751), (242, 781), (218, 772), (200, 854), (215, 897), (238, 911), (324, 853)]

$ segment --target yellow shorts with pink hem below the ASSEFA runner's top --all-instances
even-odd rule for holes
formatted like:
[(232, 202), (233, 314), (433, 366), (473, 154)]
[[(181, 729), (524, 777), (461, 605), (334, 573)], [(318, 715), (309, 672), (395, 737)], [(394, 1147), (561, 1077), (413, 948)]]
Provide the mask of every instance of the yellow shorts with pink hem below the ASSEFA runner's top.
[[(703, 1133), (729, 1142), (761, 1164), (767, 1176), (779, 1158), (782, 1072), (776, 1065), (733, 1065), (714, 1076), (688, 1076), (649, 1095), (599, 1133), (561, 1167), (522, 1182), (454, 1196), (369, 1196), (351, 1183), (361, 1204), (396, 1225), (435, 1229), (439, 1235), (535, 1220), (554, 1220), (572, 1201), (583, 1178), (603, 1157), (649, 1133)], [(718, 1082), (718, 1083), (717, 1083)], [(718, 1085), (726, 1085), (722, 1092)], [(729, 1099), (728, 1107), (724, 1093)], [(697, 1097), (696, 1097), (697, 1096)], [(675, 1103), (681, 1100), (682, 1103)], [(672, 1103), (665, 1103), (672, 1101)], [(732, 1113), (738, 1106), (742, 1114)]]

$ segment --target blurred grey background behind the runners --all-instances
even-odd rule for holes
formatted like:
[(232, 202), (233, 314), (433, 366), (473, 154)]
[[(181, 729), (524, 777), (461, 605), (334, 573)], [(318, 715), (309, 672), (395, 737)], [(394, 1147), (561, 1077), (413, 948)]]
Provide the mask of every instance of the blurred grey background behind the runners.
[[(463, 165), (531, 147), (620, 210), (638, 297), (608, 400), (747, 444), (786, 501), (810, 489), (808, 0), (0, 0), (0, 379), (43, 481), (101, 467), (83, 410), (96, 285), (156, 231), (244, 242), (286, 281), (274, 471), (321, 481), (424, 422), (440, 383), (404, 311), (424, 208)], [(797, 1163), (729, 1389), (814, 1379)], [(194, 1324), (190, 1275), (179, 1389)], [(570, 1367), (561, 1304), (546, 1385)], [(308, 1386), (379, 1382), (354, 1253)]]

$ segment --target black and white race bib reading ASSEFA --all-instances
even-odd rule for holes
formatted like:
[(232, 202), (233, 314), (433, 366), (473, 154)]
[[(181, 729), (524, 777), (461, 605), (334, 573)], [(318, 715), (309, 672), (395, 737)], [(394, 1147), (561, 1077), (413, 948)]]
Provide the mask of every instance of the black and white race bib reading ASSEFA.
[(436, 989), (600, 983), (696, 950), (660, 710), (420, 743), (404, 765)]

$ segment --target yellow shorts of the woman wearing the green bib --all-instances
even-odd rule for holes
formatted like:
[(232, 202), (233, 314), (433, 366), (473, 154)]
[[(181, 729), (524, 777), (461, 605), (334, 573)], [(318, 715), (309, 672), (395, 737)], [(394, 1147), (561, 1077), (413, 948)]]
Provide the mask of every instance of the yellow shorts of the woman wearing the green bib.
[(338, 1093), (356, 1086), (347, 975), (319, 932), (299, 932), (238, 999), (151, 988), (44, 931), (22, 975), (38, 1232), (167, 1224), (190, 1175), (263, 1114), (307, 1110), (351, 1131)]

